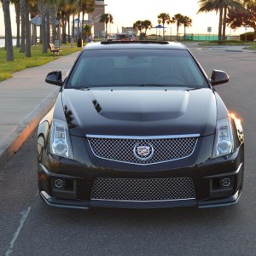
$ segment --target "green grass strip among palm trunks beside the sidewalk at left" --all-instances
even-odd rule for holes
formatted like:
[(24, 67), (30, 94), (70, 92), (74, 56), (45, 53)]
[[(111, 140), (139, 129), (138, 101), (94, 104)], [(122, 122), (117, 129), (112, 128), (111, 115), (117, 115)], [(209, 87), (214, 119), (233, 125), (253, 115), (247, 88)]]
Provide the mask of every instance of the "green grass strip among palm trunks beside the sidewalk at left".
[(29, 67), (38, 67), (42, 66), (49, 61), (54, 61), (61, 56), (66, 56), (73, 54), (80, 50), (77, 47), (70, 47), (70, 44), (61, 46), (60, 56), (53, 56), (49, 51), (47, 54), (42, 54), (42, 46), (33, 46), (32, 47), (32, 57), (26, 58), (24, 53), (20, 53), (20, 49), (14, 48), (15, 61), (6, 61), (6, 51), (3, 48), (0, 48), (0, 81), (5, 79), (12, 78), (13, 73), (26, 69)]

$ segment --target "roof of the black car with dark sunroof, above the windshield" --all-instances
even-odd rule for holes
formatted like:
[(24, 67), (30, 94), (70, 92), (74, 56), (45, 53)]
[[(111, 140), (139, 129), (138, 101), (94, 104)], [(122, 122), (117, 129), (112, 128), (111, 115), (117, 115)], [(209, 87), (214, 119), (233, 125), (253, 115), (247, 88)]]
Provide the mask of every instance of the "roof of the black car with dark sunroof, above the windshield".
[(187, 49), (187, 47), (167, 41), (104, 41), (86, 44), (84, 49)]

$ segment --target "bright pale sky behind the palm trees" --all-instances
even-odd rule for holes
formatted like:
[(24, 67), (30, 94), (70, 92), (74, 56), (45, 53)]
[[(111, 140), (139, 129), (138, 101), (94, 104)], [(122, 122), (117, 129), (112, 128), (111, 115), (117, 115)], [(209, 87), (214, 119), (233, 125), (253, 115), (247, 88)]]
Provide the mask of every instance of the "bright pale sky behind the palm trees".
[[(218, 34), (218, 15), (215, 12), (197, 14), (199, 9), (198, 0), (105, 0), (106, 13), (113, 15), (113, 24), (110, 32), (121, 32), (122, 26), (132, 26), (137, 20), (150, 20), (154, 26), (158, 25), (157, 16), (160, 13), (167, 13), (171, 17), (180, 13), (189, 16), (193, 22), (192, 26), (186, 29), (187, 33), (207, 34), (207, 27), (212, 27), (212, 34)], [(15, 9), (11, 7), (13, 35), (15, 35)], [(166, 26), (166, 32), (176, 34), (176, 25)], [(248, 28), (247, 31), (253, 31)], [(152, 33), (155, 31), (151, 30)], [(183, 32), (183, 27), (180, 28)], [(236, 31), (227, 29), (228, 35), (238, 35), (245, 32), (244, 28)], [(150, 33), (150, 32), (148, 32)], [(0, 8), (0, 36), (4, 35), (3, 10)]]

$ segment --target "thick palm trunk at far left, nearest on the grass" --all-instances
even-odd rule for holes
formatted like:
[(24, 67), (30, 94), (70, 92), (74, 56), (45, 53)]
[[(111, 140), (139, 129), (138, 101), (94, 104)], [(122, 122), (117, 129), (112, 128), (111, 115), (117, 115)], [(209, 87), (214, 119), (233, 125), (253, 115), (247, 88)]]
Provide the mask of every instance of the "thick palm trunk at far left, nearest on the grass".
[(12, 26), (9, 12), (9, 0), (3, 0), (3, 16), (5, 26), (5, 47), (6, 47), (6, 61), (14, 61), (14, 48), (12, 37)]

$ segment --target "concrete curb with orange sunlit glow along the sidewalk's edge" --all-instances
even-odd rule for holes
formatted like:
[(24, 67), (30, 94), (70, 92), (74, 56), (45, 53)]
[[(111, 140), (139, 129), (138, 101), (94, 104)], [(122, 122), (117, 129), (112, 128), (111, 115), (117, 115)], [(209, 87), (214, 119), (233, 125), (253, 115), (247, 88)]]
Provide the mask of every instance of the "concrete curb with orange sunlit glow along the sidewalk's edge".
[(0, 148), (0, 170), (22, 146), (27, 137), (32, 134), (32, 131), (36, 129), (40, 120), (44, 118), (49, 109), (53, 107), (58, 91), (59, 90), (56, 89), (47, 96), (32, 113), (29, 113), (26, 118), (21, 121), (15, 131), (3, 142), (3, 146)]

